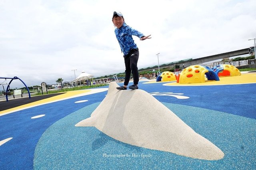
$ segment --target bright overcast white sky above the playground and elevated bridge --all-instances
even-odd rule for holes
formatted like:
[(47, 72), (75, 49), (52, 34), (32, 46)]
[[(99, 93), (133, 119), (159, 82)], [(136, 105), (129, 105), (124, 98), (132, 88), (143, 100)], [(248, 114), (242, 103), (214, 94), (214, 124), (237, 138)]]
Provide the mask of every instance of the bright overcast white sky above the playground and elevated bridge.
[(255, 0), (0, 0), (0, 77), (32, 86), (71, 81), (72, 69), (76, 77), (124, 72), (114, 11), (152, 35), (134, 37), (138, 69), (158, 65), (157, 53), (160, 64), (194, 59), (248, 48), (256, 37)]

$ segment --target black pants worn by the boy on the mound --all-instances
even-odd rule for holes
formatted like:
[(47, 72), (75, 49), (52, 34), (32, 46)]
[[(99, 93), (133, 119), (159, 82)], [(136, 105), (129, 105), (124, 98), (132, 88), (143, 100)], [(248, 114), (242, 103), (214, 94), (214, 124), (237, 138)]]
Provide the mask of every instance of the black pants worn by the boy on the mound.
[(133, 76), (133, 83), (135, 85), (139, 82), (139, 71), (137, 67), (139, 59), (139, 49), (131, 49), (127, 55), (124, 55), (124, 64), (125, 64), (125, 78), (124, 85), (128, 85), (131, 77)]

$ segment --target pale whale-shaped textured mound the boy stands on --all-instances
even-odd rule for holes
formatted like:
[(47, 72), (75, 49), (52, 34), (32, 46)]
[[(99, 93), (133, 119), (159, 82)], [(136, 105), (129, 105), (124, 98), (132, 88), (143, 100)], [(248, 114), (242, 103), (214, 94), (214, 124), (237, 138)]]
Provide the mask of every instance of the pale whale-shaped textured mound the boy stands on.
[(108, 136), (143, 148), (204, 160), (224, 153), (197, 134), (162, 103), (143, 90), (122, 90), (110, 83), (108, 94), (91, 117), (76, 127), (96, 127)]

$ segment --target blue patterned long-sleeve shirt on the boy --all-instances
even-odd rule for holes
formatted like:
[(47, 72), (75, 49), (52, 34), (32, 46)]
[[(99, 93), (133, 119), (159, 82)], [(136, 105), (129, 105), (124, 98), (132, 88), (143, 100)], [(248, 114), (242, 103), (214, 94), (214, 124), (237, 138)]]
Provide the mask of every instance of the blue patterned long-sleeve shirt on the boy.
[(132, 36), (137, 36), (138, 38), (142, 38), (144, 35), (137, 30), (134, 30), (127, 24), (123, 24), (121, 28), (115, 29), (116, 38), (121, 47), (121, 51), (124, 55), (127, 55), (130, 49), (138, 48)]

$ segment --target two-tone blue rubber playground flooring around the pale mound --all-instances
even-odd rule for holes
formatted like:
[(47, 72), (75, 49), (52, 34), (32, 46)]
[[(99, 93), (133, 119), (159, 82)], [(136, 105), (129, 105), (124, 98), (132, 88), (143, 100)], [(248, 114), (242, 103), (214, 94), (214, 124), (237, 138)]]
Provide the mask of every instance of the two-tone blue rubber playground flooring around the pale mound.
[[(252, 76), (256, 79), (256, 74)], [(75, 127), (106, 97), (108, 86), (104, 86), (100, 92), (98, 88), (88, 95), (9, 114), (0, 112), (0, 141), (8, 139), (0, 144), (0, 169), (256, 169), (256, 81), (186, 86), (172, 83), (140, 81), (139, 88), (220, 148), (223, 159), (200, 160), (150, 150), (115, 140), (95, 127)], [(139, 102), (146, 101), (138, 101), (138, 107)]]

